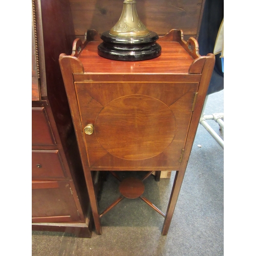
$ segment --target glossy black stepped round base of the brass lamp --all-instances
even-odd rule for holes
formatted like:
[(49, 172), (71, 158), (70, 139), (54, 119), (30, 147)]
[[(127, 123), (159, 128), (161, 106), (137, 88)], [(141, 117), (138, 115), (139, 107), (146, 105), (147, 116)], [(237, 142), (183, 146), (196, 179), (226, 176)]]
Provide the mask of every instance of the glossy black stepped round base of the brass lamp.
[(153, 59), (161, 55), (161, 46), (157, 44), (157, 33), (141, 37), (118, 37), (109, 31), (102, 33), (103, 42), (98, 46), (101, 57), (114, 60), (137, 61)]

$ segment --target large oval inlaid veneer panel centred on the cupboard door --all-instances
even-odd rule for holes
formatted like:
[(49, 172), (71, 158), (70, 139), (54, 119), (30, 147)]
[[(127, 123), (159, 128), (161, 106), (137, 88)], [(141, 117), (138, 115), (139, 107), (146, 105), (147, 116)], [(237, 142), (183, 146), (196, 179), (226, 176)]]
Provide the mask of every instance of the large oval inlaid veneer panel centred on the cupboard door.
[(95, 121), (95, 135), (113, 156), (143, 160), (157, 156), (173, 141), (176, 120), (162, 101), (129, 95), (106, 104)]

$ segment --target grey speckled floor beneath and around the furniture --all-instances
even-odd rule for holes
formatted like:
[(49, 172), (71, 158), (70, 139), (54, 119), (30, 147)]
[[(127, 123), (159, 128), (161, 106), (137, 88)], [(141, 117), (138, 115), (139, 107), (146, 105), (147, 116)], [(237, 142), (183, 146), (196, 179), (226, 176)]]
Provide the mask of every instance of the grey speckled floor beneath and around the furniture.
[[(224, 112), (223, 94), (209, 95), (205, 114)], [(215, 121), (208, 123), (223, 138), (224, 130)], [(144, 182), (145, 197), (163, 212), (173, 178), (155, 182), (151, 176)], [(111, 189), (103, 187), (100, 209), (119, 195), (119, 182), (112, 175), (107, 182)], [(223, 149), (199, 125), (167, 236), (161, 236), (163, 217), (139, 199), (124, 199), (101, 220), (102, 235), (93, 232), (91, 239), (33, 231), (32, 255), (223, 255)]]

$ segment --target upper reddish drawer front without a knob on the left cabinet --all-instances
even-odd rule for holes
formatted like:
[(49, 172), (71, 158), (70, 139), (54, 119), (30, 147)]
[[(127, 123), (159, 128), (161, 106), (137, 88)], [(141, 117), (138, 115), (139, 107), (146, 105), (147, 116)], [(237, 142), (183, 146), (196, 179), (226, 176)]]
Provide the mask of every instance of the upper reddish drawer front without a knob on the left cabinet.
[(55, 144), (45, 108), (32, 108), (32, 145)]

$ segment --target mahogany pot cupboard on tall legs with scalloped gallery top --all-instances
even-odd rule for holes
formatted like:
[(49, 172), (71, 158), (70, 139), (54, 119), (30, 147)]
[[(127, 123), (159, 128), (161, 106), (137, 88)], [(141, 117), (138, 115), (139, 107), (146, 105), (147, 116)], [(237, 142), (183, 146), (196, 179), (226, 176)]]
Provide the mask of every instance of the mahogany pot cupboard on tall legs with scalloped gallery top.
[(119, 187), (123, 197), (140, 197), (164, 216), (163, 235), (172, 220), (215, 56), (200, 56), (197, 40), (185, 42), (181, 30), (158, 42), (157, 58), (110, 60), (98, 55), (100, 35), (89, 30), (71, 55), (59, 57), (98, 234), (100, 218), (122, 199), (98, 211), (92, 178), (98, 170), (176, 171), (166, 214), (142, 196), (140, 180)]

